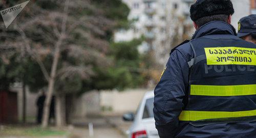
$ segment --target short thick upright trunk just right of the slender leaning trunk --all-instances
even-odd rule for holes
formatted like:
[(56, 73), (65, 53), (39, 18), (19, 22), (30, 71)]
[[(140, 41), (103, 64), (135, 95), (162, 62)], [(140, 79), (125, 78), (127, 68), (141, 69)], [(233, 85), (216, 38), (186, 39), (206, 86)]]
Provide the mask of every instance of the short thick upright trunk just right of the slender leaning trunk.
[(62, 127), (66, 124), (66, 104), (65, 104), (65, 94), (56, 94), (56, 126)]

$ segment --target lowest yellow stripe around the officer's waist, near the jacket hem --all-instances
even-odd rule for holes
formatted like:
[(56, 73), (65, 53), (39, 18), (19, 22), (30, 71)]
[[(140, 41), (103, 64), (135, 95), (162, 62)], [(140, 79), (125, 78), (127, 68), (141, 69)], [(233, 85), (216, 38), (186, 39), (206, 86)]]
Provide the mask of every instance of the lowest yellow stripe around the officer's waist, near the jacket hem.
[(208, 111), (182, 111), (180, 121), (197, 121), (204, 119), (235, 118), (256, 116), (256, 110), (239, 112), (208, 112)]

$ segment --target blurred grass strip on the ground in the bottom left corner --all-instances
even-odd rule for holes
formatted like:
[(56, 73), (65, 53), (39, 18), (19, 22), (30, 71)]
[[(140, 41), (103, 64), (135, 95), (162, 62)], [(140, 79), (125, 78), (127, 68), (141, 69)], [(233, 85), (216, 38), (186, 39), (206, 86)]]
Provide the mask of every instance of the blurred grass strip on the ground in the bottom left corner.
[(6, 126), (0, 130), (1, 136), (64, 136), (69, 134), (67, 131), (56, 130), (54, 128), (42, 129), (40, 127), (16, 127)]

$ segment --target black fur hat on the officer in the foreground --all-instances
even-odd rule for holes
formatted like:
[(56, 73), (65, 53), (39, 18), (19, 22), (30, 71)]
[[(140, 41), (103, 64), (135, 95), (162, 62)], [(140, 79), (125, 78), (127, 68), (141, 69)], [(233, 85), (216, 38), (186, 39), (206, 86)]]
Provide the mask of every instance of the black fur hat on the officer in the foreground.
[(190, 17), (193, 21), (206, 16), (233, 13), (234, 8), (230, 0), (198, 0), (190, 7)]

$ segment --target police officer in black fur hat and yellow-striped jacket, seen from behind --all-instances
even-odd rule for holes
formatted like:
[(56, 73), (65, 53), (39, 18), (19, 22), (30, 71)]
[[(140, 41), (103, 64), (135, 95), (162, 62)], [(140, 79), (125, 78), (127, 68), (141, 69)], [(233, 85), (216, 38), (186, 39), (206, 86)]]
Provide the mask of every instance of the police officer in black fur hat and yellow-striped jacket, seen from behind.
[(190, 7), (196, 32), (172, 50), (155, 88), (160, 137), (255, 137), (256, 45), (236, 35), (230, 0)]

